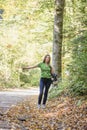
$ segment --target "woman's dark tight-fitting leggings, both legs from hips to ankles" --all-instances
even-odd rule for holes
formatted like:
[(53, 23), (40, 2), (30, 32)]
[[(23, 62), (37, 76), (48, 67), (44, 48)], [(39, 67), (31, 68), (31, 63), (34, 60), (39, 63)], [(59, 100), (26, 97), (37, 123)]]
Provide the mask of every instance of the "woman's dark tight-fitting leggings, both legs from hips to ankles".
[[(43, 104), (46, 104), (47, 96), (48, 96), (48, 90), (51, 85), (51, 79), (50, 78), (41, 78), (40, 79), (40, 93), (38, 97), (38, 104), (41, 104), (43, 91), (44, 91), (44, 98), (43, 98)], [(44, 90), (45, 89), (45, 90)]]

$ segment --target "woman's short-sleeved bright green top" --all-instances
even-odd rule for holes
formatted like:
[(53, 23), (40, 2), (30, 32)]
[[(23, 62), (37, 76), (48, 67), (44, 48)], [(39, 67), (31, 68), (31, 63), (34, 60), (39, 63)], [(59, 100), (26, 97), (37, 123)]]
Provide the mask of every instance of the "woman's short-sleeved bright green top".
[(41, 69), (41, 78), (51, 78), (50, 65), (42, 62), (38, 64), (38, 67)]

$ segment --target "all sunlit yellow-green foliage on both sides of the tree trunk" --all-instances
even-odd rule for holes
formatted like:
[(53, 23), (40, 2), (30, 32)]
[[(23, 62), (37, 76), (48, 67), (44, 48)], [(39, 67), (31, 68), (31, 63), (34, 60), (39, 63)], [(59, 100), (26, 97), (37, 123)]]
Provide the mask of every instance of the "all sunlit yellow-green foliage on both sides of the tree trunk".
[[(52, 52), (53, 0), (0, 0), (0, 87), (38, 86), (40, 71), (22, 72)], [(87, 93), (86, 0), (66, 0), (64, 10), (62, 75), (50, 97)]]

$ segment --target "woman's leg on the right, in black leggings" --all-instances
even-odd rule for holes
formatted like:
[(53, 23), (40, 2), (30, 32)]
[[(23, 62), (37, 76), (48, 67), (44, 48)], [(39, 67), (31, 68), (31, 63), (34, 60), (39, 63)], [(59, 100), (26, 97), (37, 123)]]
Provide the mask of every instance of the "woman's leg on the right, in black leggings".
[(51, 85), (51, 80), (47, 79), (46, 83), (45, 83), (45, 92), (44, 92), (44, 98), (43, 98), (43, 105), (46, 104), (47, 101), (47, 97), (48, 97), (48, 91)]

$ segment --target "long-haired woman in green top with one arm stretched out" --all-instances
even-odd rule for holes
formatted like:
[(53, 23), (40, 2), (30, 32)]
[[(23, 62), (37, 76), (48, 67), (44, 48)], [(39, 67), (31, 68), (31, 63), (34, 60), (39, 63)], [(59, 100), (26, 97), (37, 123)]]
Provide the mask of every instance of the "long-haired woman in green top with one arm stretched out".
[[(43, 62), (39, 63), (38, 65), (33, 66), (33, 67), (23, 68), (23, 69), (33, 69), (33, 68), (39, 67), (41, 69), (38, 108), (41, 107), (41, 102), (42, 102), (42, 108), (45, 108), (47, 96), (48, 96), (48, 91), (49, 91), (50, 85), (52, 83), (51, 74), (53, 73), (53, 68), (50, 66), (50, 60), (51, 60), (51, 57), (50, 57), (50, 55), (47, 54), (44, 57)], [(44, 97), (43, 97), (43, 92), (44, 92)], [(42, 101), (42, 97), (43, 97), (43, 101)]]

